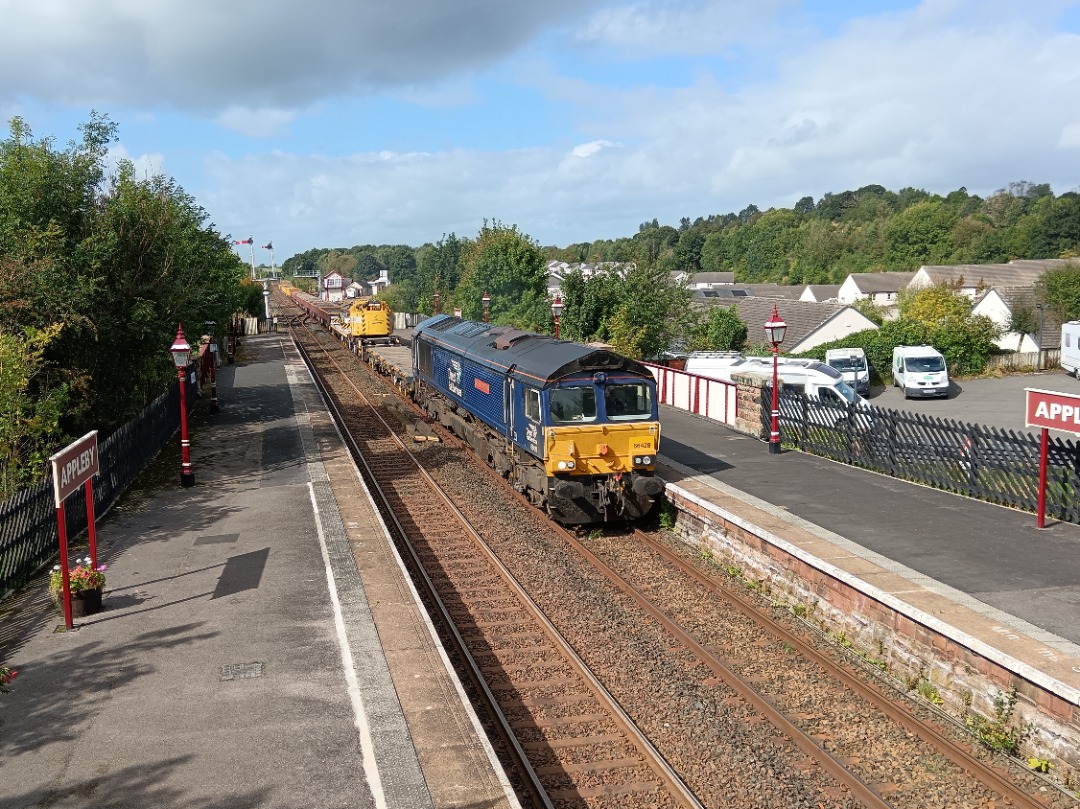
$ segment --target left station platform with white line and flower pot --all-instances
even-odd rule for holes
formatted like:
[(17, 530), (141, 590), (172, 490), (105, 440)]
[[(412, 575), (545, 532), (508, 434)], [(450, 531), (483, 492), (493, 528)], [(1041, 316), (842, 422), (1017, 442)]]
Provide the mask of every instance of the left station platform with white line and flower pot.
[(288, 339), (218, 399), (194, 487), (166, 450), (99, 515), (100, 612), (0, 605), (0, 806), (516, 807)]

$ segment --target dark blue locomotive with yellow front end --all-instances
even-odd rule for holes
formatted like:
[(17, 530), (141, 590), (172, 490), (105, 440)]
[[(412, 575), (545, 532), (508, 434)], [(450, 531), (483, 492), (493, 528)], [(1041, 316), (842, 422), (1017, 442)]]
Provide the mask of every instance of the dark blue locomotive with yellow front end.
[(415, 329), (413, 374), (414, 399), (561, 524), (637, 520), (663, 493), (639, 362), (440, 314)]

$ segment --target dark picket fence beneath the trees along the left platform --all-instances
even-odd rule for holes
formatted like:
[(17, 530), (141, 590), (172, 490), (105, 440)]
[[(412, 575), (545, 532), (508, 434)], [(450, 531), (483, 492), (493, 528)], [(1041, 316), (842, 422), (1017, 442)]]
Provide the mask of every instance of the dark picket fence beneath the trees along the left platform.
[[(198, 381), (187, 375), (190, 410), (199, 395)], [(94, 514), (100, 516), (161, 451), (180, 426), (180, 388), (172, 386), (136, 418), (98, 442), (99, 472), (94, 477)], [(80, 487), (64, 501), (69, 538), (86, 530), (86, 490)], [(59, 534), (52, 477), (0, 503), (0, 597), (22, 586), (56, 557)]]

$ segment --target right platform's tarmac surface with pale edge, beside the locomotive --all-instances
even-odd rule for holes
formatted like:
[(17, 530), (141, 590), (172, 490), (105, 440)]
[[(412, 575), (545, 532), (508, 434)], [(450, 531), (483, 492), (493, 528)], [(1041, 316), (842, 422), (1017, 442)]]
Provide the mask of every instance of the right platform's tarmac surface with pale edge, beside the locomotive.
[[(799, 451), (661, 407), (659, 473), (809, 567), (1044, 689), (1080, 723), (1080, 526)], [(1040, 699), (1043, 696), (1040, 695)]]

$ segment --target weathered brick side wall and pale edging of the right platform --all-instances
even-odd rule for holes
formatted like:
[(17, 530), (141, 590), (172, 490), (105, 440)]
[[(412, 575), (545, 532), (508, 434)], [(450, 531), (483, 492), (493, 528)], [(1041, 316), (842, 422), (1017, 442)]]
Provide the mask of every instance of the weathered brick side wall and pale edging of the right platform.
[(1010, 724), (1030, 726), (1025, 756), (1080, 770), (1080, 657), (1035, 626), (995, 620), (985, 605), (874, 558), (853, 543), (661, 456), (658, 473), (684, 541), (909, 687), (954, 718), (995, 717), (1016, 691)]

